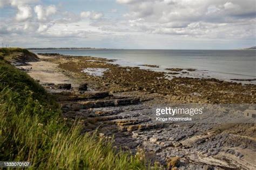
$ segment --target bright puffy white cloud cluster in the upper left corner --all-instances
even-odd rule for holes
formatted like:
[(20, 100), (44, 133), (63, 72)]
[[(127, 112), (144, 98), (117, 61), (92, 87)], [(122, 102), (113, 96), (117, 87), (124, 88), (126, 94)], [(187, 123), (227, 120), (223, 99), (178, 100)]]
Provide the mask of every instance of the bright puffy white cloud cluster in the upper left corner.
[[(36, 5), (37, 0), (0, 0), (0, 5), (11, 6), (17, 9), (15, 20), (6, 18), (1, 20), (1, 23), (8, 25), (8, 29), (2, 30), (9, 34), (34, 34), (47, 31), (55, 20), (50, 17), (57, 12), (55, 5), (42, 6)], [(34, 8), (35, 13), (33, 13)], [(11, 20), (11, 22), (10, 22)], [(0, 35), (1, 36), (1, 35)]]

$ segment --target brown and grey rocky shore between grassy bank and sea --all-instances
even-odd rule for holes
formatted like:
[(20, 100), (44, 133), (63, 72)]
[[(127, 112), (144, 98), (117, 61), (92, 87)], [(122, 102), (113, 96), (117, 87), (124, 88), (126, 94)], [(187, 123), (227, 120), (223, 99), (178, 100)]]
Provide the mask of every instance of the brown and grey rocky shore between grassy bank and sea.
[(116, 147), (173, 169), (256, 168), (255, 124), (160, 123), (151, 118), (152, 108), (161, 104), (255, 104), (255, 85), (167, 79), (164, 72), (120, 67), (91, 56), (38, 56), (41, 61), (19, 68), (56, 97), (65, 119), (80, 118), (84, 132), (97, 130), (99, 137), (113, 138)]

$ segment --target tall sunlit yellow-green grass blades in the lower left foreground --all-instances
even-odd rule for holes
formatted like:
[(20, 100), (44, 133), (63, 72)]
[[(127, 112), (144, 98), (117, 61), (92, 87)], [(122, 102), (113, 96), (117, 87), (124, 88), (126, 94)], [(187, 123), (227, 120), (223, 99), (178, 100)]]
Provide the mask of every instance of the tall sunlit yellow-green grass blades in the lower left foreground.
[[(29, 101), (23, 109), (17, 109), (19, 106), (12, 102), (17, 97), (9, 88), (1, 91), (1, 160), (31, 161), (31, 168), (145, 168), (137, 158), (114, 151), (110, 141), (82, 135), (77, 123), (67, 128), (58, 118), (42, 122), (37, 113), (42, 114), (44, 109), (37, 102)], [(29, 116), (31, 111), (34, 115)]]

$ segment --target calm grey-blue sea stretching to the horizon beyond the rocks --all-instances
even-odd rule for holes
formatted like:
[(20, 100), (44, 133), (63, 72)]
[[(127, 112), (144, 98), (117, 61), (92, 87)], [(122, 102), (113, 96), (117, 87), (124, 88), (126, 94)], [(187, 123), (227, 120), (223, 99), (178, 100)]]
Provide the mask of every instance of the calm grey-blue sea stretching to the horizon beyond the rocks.
[[(256, 50), (191, 50), (191, 49), (37, 49), (34, 53), (59, 53), (113, 59), (120, 66), (140, 67), (156, 72), (166, 68), (183, 68), (173, 76), (214, 78), (243, 84), (256, 84)], [(157, 65), (158, 68), (141, 65)], [(193, 72), (186, 69), (196, 69)], [(187, 72), (187, 73), (185, 73)], [(234, 80), (241, 79), (241, 80)], [(251, 80), (251, 81), (246, 81)]]

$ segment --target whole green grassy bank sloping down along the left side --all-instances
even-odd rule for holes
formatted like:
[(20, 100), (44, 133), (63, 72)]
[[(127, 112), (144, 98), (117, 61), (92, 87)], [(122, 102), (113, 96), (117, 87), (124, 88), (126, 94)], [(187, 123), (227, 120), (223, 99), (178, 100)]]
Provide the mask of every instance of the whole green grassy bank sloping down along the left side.
[(79, 124), (65, 122), (43, 87), (5, 60), (17, 51), (4, 51), (0, 48), (0, 160), (30, 161), (31, 168), (146, 169), (144, 161), (113, 150), (110, 141), (81, 135)]

